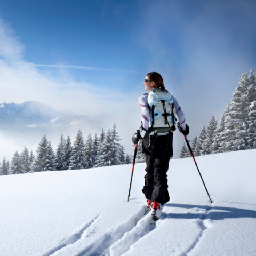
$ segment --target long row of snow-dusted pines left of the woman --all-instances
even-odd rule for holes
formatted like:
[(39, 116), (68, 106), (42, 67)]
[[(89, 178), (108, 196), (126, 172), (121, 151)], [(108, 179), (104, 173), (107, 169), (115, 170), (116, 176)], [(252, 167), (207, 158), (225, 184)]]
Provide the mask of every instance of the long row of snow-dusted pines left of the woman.
[(54, 153), (51, 141), (46, 138), (46, 135), (43, 135), (36, 149), (36, 155), (32, 150), (29, 152), (26, 147), (21, 154), (16, 150), (10, 164), (5, 157), (3, 158), (0, 174), (76, 170), (130, 164), (130, 156), (125, 155), (120, 141), (116, 124), (107, 133), (102, 128), (100, 136), (95, 134), (93, 139), (89, 133), (84, 140), (81, 130), (78, 130), (73, 145), (69, 135), (65, 139), (61, 134), (59, 145)]

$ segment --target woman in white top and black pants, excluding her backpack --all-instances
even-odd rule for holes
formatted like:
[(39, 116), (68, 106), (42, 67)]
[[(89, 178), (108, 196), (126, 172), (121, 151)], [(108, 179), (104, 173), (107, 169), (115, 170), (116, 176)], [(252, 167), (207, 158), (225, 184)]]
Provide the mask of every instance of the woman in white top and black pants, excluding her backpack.
[[(145, 86), (145, 91), (150, 92), (157, 89), (166, 91), (163, 78), (157, 72), (148, 73), (143, 85)], [(173, 131), (162, 134), (157, 134), (155, 131), (154, 133), (153, 127), (151, 127), (153, 125), (150, 126), (152, 123), (150, 122), (150, 118), (154, 118), (154, 114), (152, 117), (152, 109), (148, 103), (148, 93), (139, 98), (139, 103), (142, 110), (142, 126), (140, 130), (134, 133), (132, 141), (136, 144), (142, 139), (143, 153), (145, 153), (146, 157), (145, 186), (142, 192), (147, 198), (147, 211), (151, 210), (153, 218), (159, 219), (162, 214), (163, 205), (170, 200), (166, 173), (169, 168), (170, 158), (173, 155)], [(185, 115), (174, 97), (173, 105), (173, 112), (179, 118), (177, 127), (181, 133), (187, 135), (189, 133), (189, 127), (186, 124)]]

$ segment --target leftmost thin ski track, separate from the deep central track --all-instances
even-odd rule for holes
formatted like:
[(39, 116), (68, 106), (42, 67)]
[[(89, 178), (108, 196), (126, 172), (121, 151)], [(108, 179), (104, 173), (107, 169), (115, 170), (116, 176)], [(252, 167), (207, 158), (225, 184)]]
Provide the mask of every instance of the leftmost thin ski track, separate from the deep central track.
[(58, 252), (63, 247), (66, 247), (67, 245), (71, 245), (76, 243), (79, 239), (81, 239), (81, 236), (85, 233), (85, 231), (95, 222), (98, 220), (101, 213), (99, 213), (96, 217), (94, 217), (92, 220), (87, 222), (83, 227), (78, 228), (75, 230), (70, 236), (66, 237), (62, 240), (62, 242), (55, 246), (53, 249), (49, 250), (43, 256), (50, 256), (53, 255), (55, 252)]

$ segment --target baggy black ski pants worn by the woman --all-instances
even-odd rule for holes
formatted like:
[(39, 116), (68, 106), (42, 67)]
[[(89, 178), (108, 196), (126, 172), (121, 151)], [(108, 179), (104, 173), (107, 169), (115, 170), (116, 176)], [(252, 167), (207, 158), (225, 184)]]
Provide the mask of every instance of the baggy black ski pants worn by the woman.
[(147, 132), (142, 140), (146, 156), (145, 186), (142, 192), (147, 199), (164, 205), (170, 200), (167, 185), (169, 161), (173, 155), (173, 133), (150, 136)]

